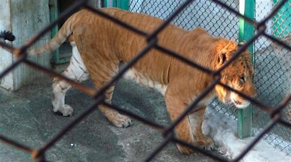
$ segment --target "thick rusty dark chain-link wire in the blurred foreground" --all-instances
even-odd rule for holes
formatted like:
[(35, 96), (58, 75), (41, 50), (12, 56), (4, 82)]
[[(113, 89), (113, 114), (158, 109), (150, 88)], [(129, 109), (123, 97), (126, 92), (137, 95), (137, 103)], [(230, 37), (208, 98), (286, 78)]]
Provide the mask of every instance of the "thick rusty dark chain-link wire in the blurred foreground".
[[(9, 139), (9, 138), (7, 138), (5, 136), (2, 136), (2, 135), (0, 135), (0, 140), (1, 141), (6, 142), (6, 143), (8, 143), (8, 144), (10, 144), (10, 145), (12, 145), (14, 147), (19, 148), (19, 149), (22, 149), (23, 151), (31, 153), (33, 160), (35, 160), (36, 162), (46, 162), (47, 159), (45, 157), (45, 152), (50, 147), (52, 147), (58, 140), (60, 140), (65, 135), (65, 133), (67, 133), (71, 129), (73, 129), (74, 126), (76, 124), (78, 124), (83, 118), (85, 118), (90, 113), (92, 113), (96, 109), (97, 105), (99, 105), (99, 104), (105, 104), (105, 105), (109, 106), (112, 109), (120, 111), (120, 112), (122, 112), (122, 113), (124, 113), (124, 114), (126, 114), (126, 115), (128, 115), (128, 116), (130, 116), (132, 118), (140, 120), (140, 121), (146, 123), (147, 125), (162, 131), (162, 135), (164, 137), (163, 141), (161, 142), (161, 144), (156, 149), (153, 150), (153, 152), (150, 155), (148, 155), (148, 157), (146, 158), (145, 162), (151, 161), (170, 142), (179, 143), (181, 145), (184, 145), (184, 146), (187, 146), (187, 147), (191, 147), (194, 150), (196, 150), (198, 152), (201, 152), (201, 153), (203, 153), (203, 154), (205, 154), (205, 155), (207, 155), (207, 156), (209, 156), (209, 157), (211, 157), (211, 158), (213, 158), (215, 160), (221, 161), (221, 162), (238, 162), (244, 157), (244, 155), (252, 147), (254, 147), (254, 145), (256, 145), (256, 143), (264, 136), (264, 134), (266, 134), (267, 132), (272, 130), (275, 125), (281, 125), (281, 126), (286, 127), (289, 130), (291, 129), (291, 123), (286, 121), (286, 120), (284, 120), (284, 118), (281, 116), (281, 112), (283, 111), (284, 107), (286, 107), (286, 105), (288, 105), (288, 103), (291, 101), (291, 94), (285, 95), (284, 99), (282, 101), (280, 101), (279, 103), (275, 104), (274, 106), (269, 106), (269, 104), (266, 105), (265, 103), (261, 103), (258, 100), (252, 99), (252, 98), (240, 93), (239, 91), (237, 91), (235, 89), (232, 89), (229, 86), (224, 85), (224, 84), (222, 84), (220, 82), (220, 72), (224, 68), (226, 68), (226, 66), (228, 66), (231, 61), (233, 61), (234, 59), (239, 57), (239, 55), (242, 53), (242, 51), (244, 51), (247, 48), (247, 46), (249, 46), (251, 43), (253, 43), (255, 40), (257, 40), (260, 36), (263, 36), (264, 38), (273, 41), (275, 44), (278, 44), (278, 46), (280, 46), (280, 48), (282, 48), (282, 49), (284, 48), (284, 50), (286, 50), (286, 51), (291, 51), (291, 46), (289, 44), (285, 43), (284, 40), (282, 40), (282, 39), (280, 40), (278, 38), (275, 38), (275, 37), (271, 36), (271, 34), (269, 34), (266, 31), (266, 29), (267, 29), (266, 28), (266, 22), (268, 20), (270, 20), (278, 12), (278, 10), (284, 5), (284, 3), (287, 2), (288, 0), (280, 1), (275, 6), (275, 8), (272, 10), (272, 12), (270, 12), (270, 14), (267, 15), (265, 18), (263, 18), (261, 21), (250, 20), (249, 18), (239, 14), (235, 9), (233, 9), (233, 7), (230, 7), (229, 4), (223, 3), (220, 0), (212, 0), (215, 3), (215, 5), (217, 5), (217, 7), (219, 7), (219, 8), (221, 8), (223, 11), (226, 11), (226, 12), (232, 13), (234, 15), (243, 17), (245, 20), (247, 20), (248, 22), (252, 23), (257, 29), (256, 34), (250, 40), (248, 40), (246, 42), (246, 44), (243, 45), (238, 51), (236, 51), (234, 56), (231, 59), (229, 59), (221, 69), (219, 69), (217, 71), (211, 71), (209, 69), (206, 69), (206, 68), (204, 68), (204, 67), (202, 67), (202, 66), (200, 66), (200, 65), (198, 65), (198, 64), (196, 64), (196, 63), (194, 63), (194, 62), (192, 62), (192, 61), (190, 61), (188, 59), (185, 59), (184, 57), (182, 57), (182, 56), (178, 55), (177, 53), (171, 51), (171, 49), (166, 49), (166, 48), (160, 46), (159, 44), (157, 44), (157, 41), (158, 41), (157, 37), (156, 37), (157, 34), (163, 28), (165, 28), (171, 21), (175, 21), (175, 18), (177, 18), (177, 16), (179, 14), (183, 14), (185, 9), (187, 9), (187, 6), (188, 7), (191, 6), (190, 4), (194, 0), (185, 0), (181, 4), (177, 4), (178, 7), (175, 10), (169, 12), (168, 13), (169, 15), (165, 15), (166, 17), (165, 17), (164, 23), (160, 27), (158, 27), (156, 30), (152, 31), (151, 33), (146, 33), (146, 32), (144, 32), (144, 31), (142, 31), (140, 29), (136, 29), (134, 27), (131, 27), (130, 25), (128, 25), (128, 24), (126, 24), (124, 22), (121, 22), (120, 20), (118, 20), (118, 19), (116, 19), (116, 18), (114, 18), (114, 17), (112, 17), (110, 15), (107, 15), (107, 14), (103, 13), (102, 11), (100, 11), (98, 9), (94, 9), (91, 6), (87, 5), (86, 1), (87, 0), (79, 0), (79, 1), (77, 1), (74, 5), (72, 5), (70, 8), (68, 8), (63, 14), (61, 14), (57, 18), (57, 20), (55, 20), (48, 27), (46, 27), (41, 32), (39, 32), (34, 37), (32, 37), (32, 39), (30, 41), (28, 41), (28, 43), (26, 43), (24, 46), (22, 46), (20, 48), (14, 48), (14, 47), (9, 46), (7, 44), (0, 43), (0, 45), (2, 47), (10, 50), (14, 55), (16, 55), (16, 58), (17, 58), (17, 60), (12, 65), (10, 65), (7, 69), (5, 69), (0, 74), (0, 79), (4, 75), (6, 75), (9, 72), (11, 72), (16, 66), (18, 66), (21, 63), (24, 63), (24, 64), (26, 64), (28, 66), (31, 66), (32, 68), (34, 68), (36, 70), (40, 70), (40, 71), (43, 71), (44, 73), (49, 74), (51, 76), (58, 77), (58, 78), (66, 80), (70, 84), (74, 85), (74, 87), (76, 87), (76, 88), (80, 89), (81, 91), (86, 92), (89, 95), (91, 95), (95, 99), (95, 103), (90, 105), (90, 106), (88, 106), (81, 113), (81, 115), (79, 115), (76, 119), (74, 119), (73, 121), (68, 123), (62, 130), (60, 130), (59, 133), (57, 133), (52, 139), (50, 139), (47, 143), (45, 143), (40, 148), (28, 147), (28, 146), (26, 146), (24, 144), (20, 144), (17, 141), (11, 140), (11, 139)], [(32, 44), (37, 42), (40, 39), (40, 37), (43, 36), (45, 33), (47, 33), (53, 26), (55, 26), (61, 20), (63, 20), (65, 18), (67, 18), (68, 16), (70, 16), (79, 7), (84, 7), (86, 9), (90, 10), (90, 11), (93, 11), (97, 15), (106, 17), (109, 20), (113, 21), (114, 23), (116, 23), (116, 25), (120, 25), (120, 26), (122, 26), (124, 28), (130, 29), (132, 32), (135, 32), (135, 33), (140, 34), (142, 36), (145, 36), (147, 38), (146, 47), (141, 52), (139, 52), (136, 55), (135, 58), (130, 60), (126, 64), (126, 66), (124, 66), (120, 70), (120, 72), (118, 72), (108, 83), (106, 83), (100, 89), (94, 89), (94, 88), (88, 88), (88, 87), (82, 86), (82, 85), (80, 85), (80, 84), (78, 84), (78, 83), (76, 83), (76, 82), (74, 82), (74, 81), (62, 76), (61, 74), (57, 74), (57, 73), (51, 71), (50, 69), (44, 68), (44, 67), (42, 67), (40, 65), (37, 65), (37, 64), (33, 63), (32, 61), (27, 59), (27, 49), (30, 46), (32, 46)], [(215, 10), (217, 10), (216, 7), (215, 7)], [(220, 12), (220, 11), (218, 11), (218, 12)], [(196, 13), (193, 13), (193, 14), (195, 15)], [(201, 16), (202, 15), (203, 15), (203, 13), (201, 13)], [(191, 19), (191, 18), (189, 18), (189, 19)], [(232, 23), (231, 20), (229, 22)], [(217, 33), (217, 34), (221, 34), (221, 33)], [(222, 35), (220, 35), (220, 36), (222, 36)], [(159, 123), (152, 122), (152, 121), (150, 121), (150, 120), (148, 120), (146, 118), (140, 117), (137, 114), (131, 113), (131, 112), (127, 111), (127, 110), (119, 108), (116, 105), (112, 105), (112, 104), (106, 103), (104, 101), (104, 92), (105, 92), (105, 90), (107, 88), (109, 88), (110, 85), (112, 85), (114, 82), (116, 82), (122, 76), (122, 74), (124, 74), (139, 59), (141, 59), (143, 56), (145, 56), (147, 54), (147, 52), (152, 48), (154, 48), (156, 50), (159, 50), (159, 51), (162, 51), (167, 55), (175, 57), (176, 59), (180, 59), (180, 60), (184, 61), (185, 63), (193, 66), (194, 68), (197, 68), (197, 69), (199, 69), (199, 70), (201, 70), (201, 71), (203, 71), (205, 73), (211, 74), (215, 78), (214, 81), (211, 83), (211, 85), (208, 88), (206, 88), (201, 94), (199, 94), (199, 96), (188, 107), (186, 107), (185, 111), (180, 115), (180, 117), (177, 118), (175, 121), (173, 121), (168, 126), (162, 126)], [(173, 134), (173, 129), (179, 123), (179, 121), (182, 118), (184, 118), (192, 110), (192, 108), (204, 96), (206, 96), (212, 90), (212, 88), (214, 88), (214, 86), (217, 85), (217, 84), (227, 88), (230, 91), (234, 91), (234, 92), (238, 93), (243, 98), (245, 98), (245, 99), (249, 100), (251, 103), (257, 105), (257, 107), (261, 111), (267, 113), (270, 116), (270, 118), (272, 119), (268, 124), (265, 124), (265, 128), (255, 137), (254, 141), (252, 141), (248, 145), (248, 147), (244, 148), (244, 150), (241, 152), (241, 154), (239, 156), (235, 157), (232, 160), (228, 160), (228, 159), (226, 159), (224, 157), (220, 157), (220, 156), (214, 155), (209, 151), (205, 151), (205, 150), (201, 149), (200, 147), (196, 147), (194, 145), (191, 145), (191, 144), (185, 143), (183, 141), (180, 141)]]

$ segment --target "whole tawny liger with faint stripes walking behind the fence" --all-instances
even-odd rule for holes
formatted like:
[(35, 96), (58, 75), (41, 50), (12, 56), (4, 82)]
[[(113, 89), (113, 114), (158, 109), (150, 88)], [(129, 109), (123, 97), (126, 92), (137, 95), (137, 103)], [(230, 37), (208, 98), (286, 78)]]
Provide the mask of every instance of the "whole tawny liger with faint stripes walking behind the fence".
[[(162, 24), (162, 20), (148, 15), (130, 13), (119, 9), (101, 9), (131, 26), (151, 32)], [(76, 81), (92, 78), (96, 88), (100, 88), (118, 71), (121, 61), (128, 62), (146, 46), (146, 39), (128, 29), (98, 16), (81, 10), (67, 19), (57, 35), (42, 47), (32, 49), (30, 55), (39, 56), (59, 47), (66, 39), (73, 45), (73, 57), (65, 76)], [(158, 35), (158, 43), (200, 65), (217, 70), (238, 49), (238, 45), (225, 38), (211, 37), (204, 29), (191, 31), (168, 25)], [(255, 95), (251, 81), (253, 68), (250, 54), (245, 51), (222, 71), (221, 82), (249, 96)], [(185, 107), (201, 93), (213, 78), (174, 59), (158, 50), (151, 49), (140, 59), (125, 78), (141, 83), (146, 87), (157, 88), (163, 95), (170, 118), (175, 120)], [(65, 104), (65, 92), (71, 86), (65, 81), (54, 79), (53, 106), (64, 116), (72, 115), (73, 109)], [(111, 102), (114, 86), (106, 91), (106, 101)], [(206, 106), (213, 97), (223, 102), (232, 101), (238, 107), (248, 102), (236, 93), (216, 86), (198, 105), (193, 114), (184, 118), (175, 128), (178, 138), (205, 149), (213, 148), (213, 141), (201, 132), (201, 124)], [(131, 120), (118, 112), (99, 106), (105, 116), (118, 127), (127, 127)], [(192, 149), (177, 145), (182, 153)]]

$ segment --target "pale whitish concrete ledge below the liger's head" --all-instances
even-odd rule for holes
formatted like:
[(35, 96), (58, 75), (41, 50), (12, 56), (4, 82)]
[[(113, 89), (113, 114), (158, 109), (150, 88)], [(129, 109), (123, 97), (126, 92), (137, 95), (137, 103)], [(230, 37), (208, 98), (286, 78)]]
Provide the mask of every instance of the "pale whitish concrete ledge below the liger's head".
[[(224, 116), (213, 108), (208, 108), (202, 126), (203, 133), (210, 136), (218, 151), (233, 159), (255, 139), (240, 139), (237, 134), (237, 123), (229, 116)], [(260, 140), (242, 159), (241, 162), (291, 162), (291, 157), (267, 142)]]

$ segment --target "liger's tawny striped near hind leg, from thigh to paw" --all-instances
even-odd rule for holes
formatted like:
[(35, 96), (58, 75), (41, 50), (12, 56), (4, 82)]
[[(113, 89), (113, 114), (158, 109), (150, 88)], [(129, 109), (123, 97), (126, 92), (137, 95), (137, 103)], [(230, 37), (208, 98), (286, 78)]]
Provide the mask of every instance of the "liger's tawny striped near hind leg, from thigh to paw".
[[(102, 50), (102, 39), (94, 31), (90, 24), (82, 24), (74, 29), (74, 38), (81, 53), (81, 56), (88, 65), (88, 72), (97, 89), (102, 88), (118, 71), (119, 59), (113, 51)], [(100, 45), (102, 44), (102, 45)], [(106, 102), (111, 102), (114, 86), (105, 92)], [(98, 108), (117, 127), (128, 127), (131, 124), (130, 118), (119, 114), (116, 110), (110, 109), (103, 104)]]

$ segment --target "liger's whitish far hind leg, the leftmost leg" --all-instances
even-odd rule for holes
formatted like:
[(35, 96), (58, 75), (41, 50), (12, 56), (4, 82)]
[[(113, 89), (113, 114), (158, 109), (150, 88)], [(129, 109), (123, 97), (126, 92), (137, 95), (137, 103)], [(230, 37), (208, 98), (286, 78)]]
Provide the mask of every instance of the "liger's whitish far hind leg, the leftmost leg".
[[(71, 57), (68, 68), (62, 75), (79, 83), (89, 78), (89, 74), (87, 73), (76, 45), (73, 45), (73, 56)], [(71, 87), (72, 86), (65, 80), (56, 77), (53, 79), (52, 106), (54, 112), (60, 112), (63, 116), (71, 116), (73, 114), (73, 108), (65, 104), (65, 93)]]

